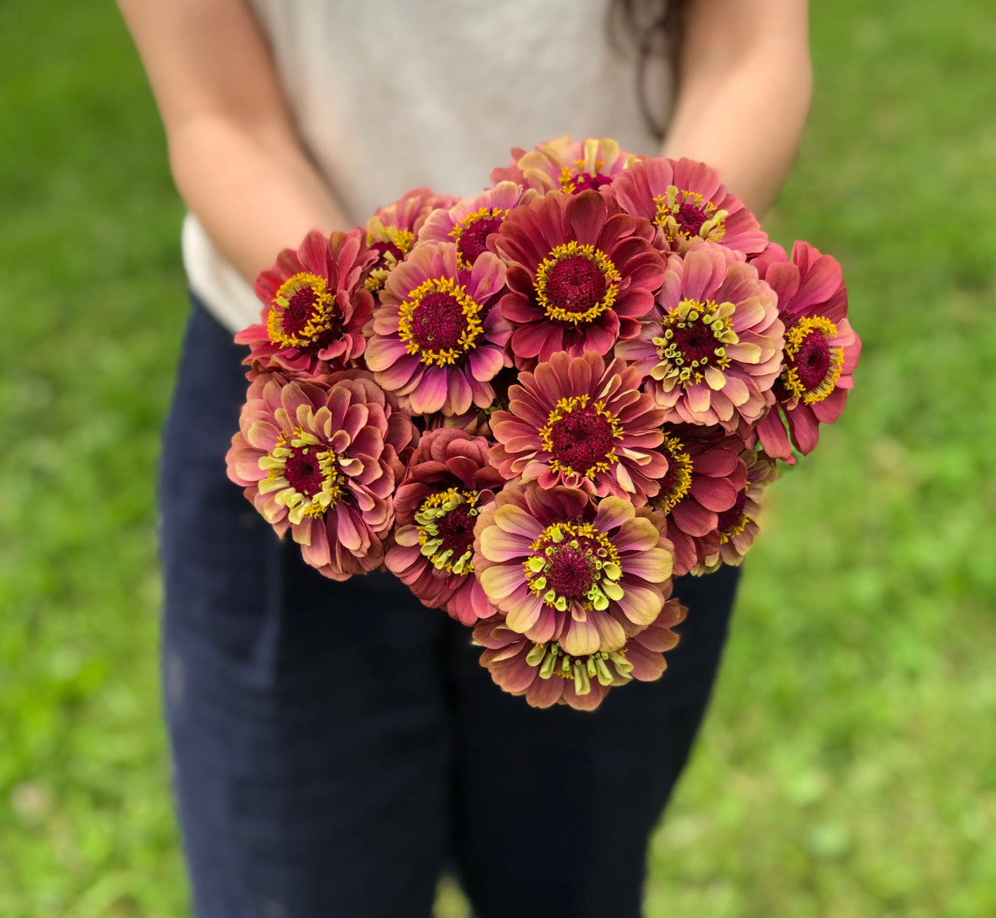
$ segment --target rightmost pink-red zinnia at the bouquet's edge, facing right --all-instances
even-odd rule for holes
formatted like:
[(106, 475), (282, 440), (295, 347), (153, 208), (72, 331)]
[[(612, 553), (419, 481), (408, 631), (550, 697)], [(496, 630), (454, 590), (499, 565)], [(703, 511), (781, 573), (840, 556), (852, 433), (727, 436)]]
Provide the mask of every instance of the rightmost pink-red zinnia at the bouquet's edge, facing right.
[(836, 259), (797, 242), (791, 261), (772, 244), (752, 264), (778, 296), (785, 324), (785, 365), (758, 435), (769, 456), (791, 463), (785, 423), (799, 452), (812, 452), (820, 425), (833, 424), (844, 411), (862, 340), (848, 322), (848, 291)]

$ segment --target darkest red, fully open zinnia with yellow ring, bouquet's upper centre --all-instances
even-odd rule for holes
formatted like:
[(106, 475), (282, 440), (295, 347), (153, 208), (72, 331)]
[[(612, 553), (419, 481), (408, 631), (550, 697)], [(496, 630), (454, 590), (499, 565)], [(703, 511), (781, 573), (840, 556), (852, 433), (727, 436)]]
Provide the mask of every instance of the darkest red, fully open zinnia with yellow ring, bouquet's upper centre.
[(638, 335), (664, 279), (652, 235), (595, 191), (548, 194), (509, 214), (490, 245), (509, 266), (500, 309), (515, 327), (516, 362), (608, 353)]

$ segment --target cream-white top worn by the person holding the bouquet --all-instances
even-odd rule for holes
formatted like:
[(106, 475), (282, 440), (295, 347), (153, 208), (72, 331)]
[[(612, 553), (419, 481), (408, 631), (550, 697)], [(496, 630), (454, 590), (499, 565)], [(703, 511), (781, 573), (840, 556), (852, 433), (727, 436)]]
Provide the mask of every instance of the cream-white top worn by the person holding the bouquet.
[[(479, 193), (513, 146), (564, 134), (613, 137), (634, 153), (659, 146), (633, 57), (610, 39), (609, 0), (249, 2), (304, 145), (358, 225), (410, 188)], [(251, 286), (192, 214), (183, 262), (227, 328), (258, 321)]]

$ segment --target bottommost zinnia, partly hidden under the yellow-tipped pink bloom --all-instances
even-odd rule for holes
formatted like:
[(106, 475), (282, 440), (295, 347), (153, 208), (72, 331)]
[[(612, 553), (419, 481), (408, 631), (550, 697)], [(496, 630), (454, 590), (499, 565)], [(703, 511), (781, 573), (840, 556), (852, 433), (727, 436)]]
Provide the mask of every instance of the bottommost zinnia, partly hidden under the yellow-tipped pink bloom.
[(619, 650), (587, 656), (572, 656), (557, 641), (535, 643), (509, 628), (502, 615), (479, 622), (474, 640), (484, 647), (481, 665), (504, 691), (525, 695), (534, 708), (568, 704), (593, 711), (613, 686), (660, 678), (667, 665), (663, 653), (678, 642), (671, 628), (686, 611), (677, 599), (668, 599), (657, 617), (627, 637)]

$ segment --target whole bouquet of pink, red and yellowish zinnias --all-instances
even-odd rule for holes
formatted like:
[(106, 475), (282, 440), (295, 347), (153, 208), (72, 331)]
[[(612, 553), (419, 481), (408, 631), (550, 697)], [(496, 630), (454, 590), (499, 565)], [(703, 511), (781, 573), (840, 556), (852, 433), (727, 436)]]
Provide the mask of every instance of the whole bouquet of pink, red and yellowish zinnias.
[(861, 341), (840, 265), (769, 243), (707, 165), (513, 157), (260, 275), (228, 470), (322, 574), (385, 566), (503, 689), (591, 709), (661, 674), (672, 575), (740, 564)]

